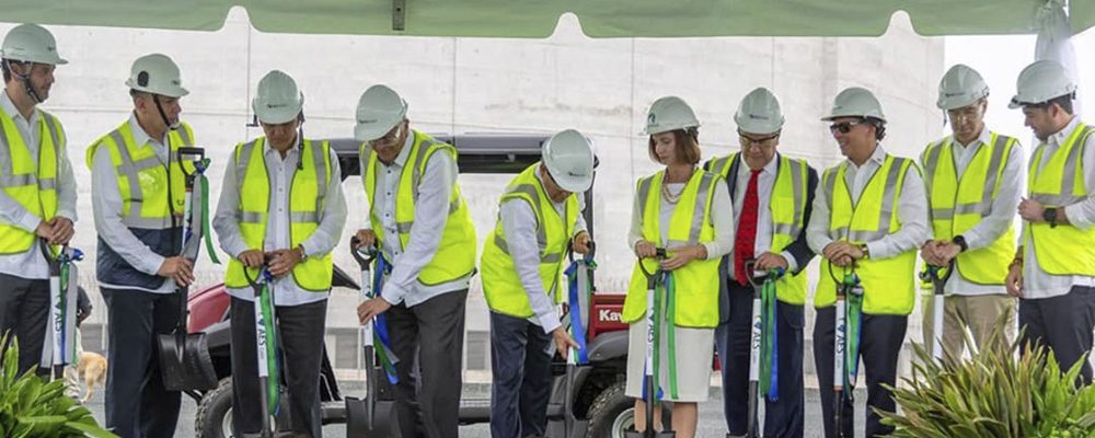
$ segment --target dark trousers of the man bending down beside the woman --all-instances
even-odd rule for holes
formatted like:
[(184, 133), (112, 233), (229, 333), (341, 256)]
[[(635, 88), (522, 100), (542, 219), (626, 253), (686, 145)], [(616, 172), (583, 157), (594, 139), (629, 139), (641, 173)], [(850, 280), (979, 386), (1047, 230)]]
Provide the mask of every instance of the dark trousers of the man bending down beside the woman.
[(552, 336), (523, 318), (491, 312), (491, 436), (542, 437), (551, 395)]

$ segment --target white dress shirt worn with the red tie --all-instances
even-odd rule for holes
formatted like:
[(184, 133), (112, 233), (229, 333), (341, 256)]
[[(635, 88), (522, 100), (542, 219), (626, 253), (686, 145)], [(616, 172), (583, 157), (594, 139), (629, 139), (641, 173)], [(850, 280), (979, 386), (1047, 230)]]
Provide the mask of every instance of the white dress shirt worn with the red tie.
[[(752, 176), (752, 170), (746, 164), (745, 157), (738, 155), (741, 163), (738, 164), (738, 178), (734, 186), (734, 223), (735, 230), (737, 224), (741, 221), (741, 209), (745, 206), (746, 191), (749, 188), (749, 178)], [(772, 224), (772, 189), (775, 187), (775, 177), (779, 175), (780, 169), (780, 155), (775, 154), (772, 161), (764, 164), (761, 169), (760, 174), (757, 175), (757, 240), (753, 243), (753, 256), (760, 256), (772, 250), (772, 232), (775, 227)], [(780, 254), (784, 260), (787, 261), (787, 270), (796, 272), (798, 270), (798, 261), (795, 260), (794, 255), (789, 251), (774, 252)], [(734, 246), (730, 246), (729, 258), (734, 261)], [(734, 267), (730, 266), (729, 269), (730, 279), (734, 278)]]

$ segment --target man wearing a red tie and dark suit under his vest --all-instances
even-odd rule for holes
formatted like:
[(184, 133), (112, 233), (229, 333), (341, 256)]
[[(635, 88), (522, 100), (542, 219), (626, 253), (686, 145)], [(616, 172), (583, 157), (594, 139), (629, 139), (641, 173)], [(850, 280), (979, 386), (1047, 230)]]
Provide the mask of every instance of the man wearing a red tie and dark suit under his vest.
[[(758, 88), (741, 100), (734, 122), (740, 152), (708, 161), (704, 169), (726, 180), (734, 206), (734, 250), (721, 266), (719, 324), (715, 346), (722, 360), (723, 411), (730, 436), (745, 436), (748, 427), (749, 350), (752, 337), (752, 272), (745, 263), (756, 260), (756, 270), (782, 268), (776, 283), (777, 382), (776, 397), (766, 396), (765, 437), (803, 436), (803, 306), (806, 275), (814, 258), (806, 244), (817, 171), (805, 161), (776, 152), (784, 117), (771, 91)], [(762, 206), (766, 206), (762, 208)], [(761, 376), (768, 379), (768, 376)], [(761, 431), (761, 430), (758, 430)]]

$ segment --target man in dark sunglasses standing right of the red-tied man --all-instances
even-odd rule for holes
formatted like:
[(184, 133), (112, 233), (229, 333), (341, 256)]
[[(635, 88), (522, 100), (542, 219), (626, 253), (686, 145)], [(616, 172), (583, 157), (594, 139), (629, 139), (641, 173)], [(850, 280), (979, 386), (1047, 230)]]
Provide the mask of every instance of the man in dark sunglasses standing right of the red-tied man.
[[(827, 437), (853, 436), (853, 405), (841, 401), (842, 424), (833, 418), (833, 338), (837, 283), (854, 269), (863, 290), (858, 353), (867, 378), (866, 436), (887, 435), (875, 408), (894, 412), (890, 391), (908, 315), (915, 299), (917, 249), (931, 237), (924, 182), (915, 163), (890, 155), (878, 143), (886, 117), (869, 91), (850, 88), (837, 95), (822, 120), (848, 158), (821, 176), (814, 198), (807, 242), (821, 254), (821, 276), (814, 293), (814, 360), (821, 390)], [(851, 298), (851, 297), (849, 297)], [(853, 358), (854, 359), (854, 358)], [(857, 360), (856, 360), (857, 362)]]

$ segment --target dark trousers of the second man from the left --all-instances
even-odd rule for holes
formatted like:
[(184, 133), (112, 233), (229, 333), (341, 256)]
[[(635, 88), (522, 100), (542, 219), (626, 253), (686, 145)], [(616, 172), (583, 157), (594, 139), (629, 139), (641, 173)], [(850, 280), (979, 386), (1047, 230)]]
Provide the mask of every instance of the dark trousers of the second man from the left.
[(178, 391), (163, 388), (158, 334), (178, 322), (178, 296), (101, 288), (106, 300), (110, 350), (106, 428), (123, 438), (175, 435)]

